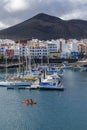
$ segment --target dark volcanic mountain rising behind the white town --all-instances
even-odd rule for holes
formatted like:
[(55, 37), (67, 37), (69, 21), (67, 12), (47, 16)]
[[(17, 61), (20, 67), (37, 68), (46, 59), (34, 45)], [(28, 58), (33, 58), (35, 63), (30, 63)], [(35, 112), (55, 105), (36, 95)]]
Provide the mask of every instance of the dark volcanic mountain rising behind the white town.
[(40, 13), (15, 26), (0, 31), (0, 38), (50, 40), (87, 38), (87, 21), (62, 20)]

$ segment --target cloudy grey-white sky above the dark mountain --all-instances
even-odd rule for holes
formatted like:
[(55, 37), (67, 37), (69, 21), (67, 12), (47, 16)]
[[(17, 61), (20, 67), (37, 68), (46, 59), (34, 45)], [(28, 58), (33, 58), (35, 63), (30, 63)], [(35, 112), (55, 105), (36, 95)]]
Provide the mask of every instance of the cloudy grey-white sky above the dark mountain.
[(87, 0), (0, 0), (0, 30), (30, 19), (38, 13), (63, 20), (87, 20)]

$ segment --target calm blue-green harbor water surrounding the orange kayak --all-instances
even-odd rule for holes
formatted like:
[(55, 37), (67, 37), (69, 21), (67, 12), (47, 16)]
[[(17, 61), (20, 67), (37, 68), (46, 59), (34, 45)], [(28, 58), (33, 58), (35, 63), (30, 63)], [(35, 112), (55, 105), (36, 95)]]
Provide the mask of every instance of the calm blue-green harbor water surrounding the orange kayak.
[[(65, 90), (0, 87), (0, 130), (87, 130), (87, 72), (64, 71)], [(36, 105), (23, 105), (32, 98)]]

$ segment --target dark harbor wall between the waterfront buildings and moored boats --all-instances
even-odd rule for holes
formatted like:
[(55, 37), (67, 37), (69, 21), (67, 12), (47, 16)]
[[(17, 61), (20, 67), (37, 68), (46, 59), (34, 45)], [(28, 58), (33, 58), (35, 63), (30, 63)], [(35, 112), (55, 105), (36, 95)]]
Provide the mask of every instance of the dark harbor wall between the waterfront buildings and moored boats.
[[(57, 64), (57, 63), (63, 63), (64, 61), (68, 62), (68, 63), (75, 63), (78, 60), (77, 59), (49, 59), (49, 61), (47, 59), (34, 59), (31, 60), (31, 64)], [(25, 66), (26, 65), (26, 61), (21, 61), (20, 62), (21, 66)], [(7, 60), (7, 67), (8, 68), (13, 68), (13, 67), (18, 67), (19, 66), (19, 61), (18, 59), (14, 60), (14, 59), (8, 59)], [(0, 68), (6, 68), (6, 61), (5, 60), (0, 60)]]

